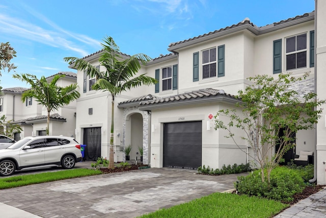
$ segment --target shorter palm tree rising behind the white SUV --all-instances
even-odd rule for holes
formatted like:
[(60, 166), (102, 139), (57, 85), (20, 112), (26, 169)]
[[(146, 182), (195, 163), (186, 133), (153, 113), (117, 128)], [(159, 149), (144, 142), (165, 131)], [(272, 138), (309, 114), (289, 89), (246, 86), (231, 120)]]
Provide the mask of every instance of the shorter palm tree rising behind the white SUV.
[(43, 105), (47, 110), (47, 125), (46, 135), (49, 135), (50, 112), (52, 110), (59, 110), (64, 105), (79, 98), (80, 94), (76, 90), (77, 84), (60, 87), (57, 86), (57, 81), (65, 77), (65, 75), (55, 75), (51, 82), (47, 82), (44, 76), (37, 79), (36, 76), (31, 74), (14, 74), (13, 78), (21, 80), (31, 85), (31, 89), (24, 91), (21, 95), (21, 101), (25, 102), (26, 98), (34, 98), (36, 101)]

